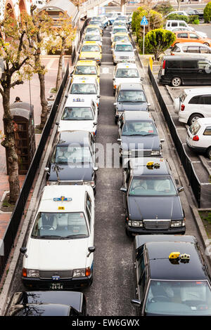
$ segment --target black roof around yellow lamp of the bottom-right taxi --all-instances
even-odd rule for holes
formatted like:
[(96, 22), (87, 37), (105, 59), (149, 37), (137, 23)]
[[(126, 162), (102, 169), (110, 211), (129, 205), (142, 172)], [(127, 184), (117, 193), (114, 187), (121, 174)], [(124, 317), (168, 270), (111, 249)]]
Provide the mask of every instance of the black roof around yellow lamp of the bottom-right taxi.
[[(151, 279), (207, 279), (195, 244), (191, 242), (148, 242), (145, 246), (150, 264)], [(169, 256), (174, 251), (179, 251), (180, 254), (189, 254), (188, 263), (183, 263), (181, 260), (177, 264), (172, 263)]]

